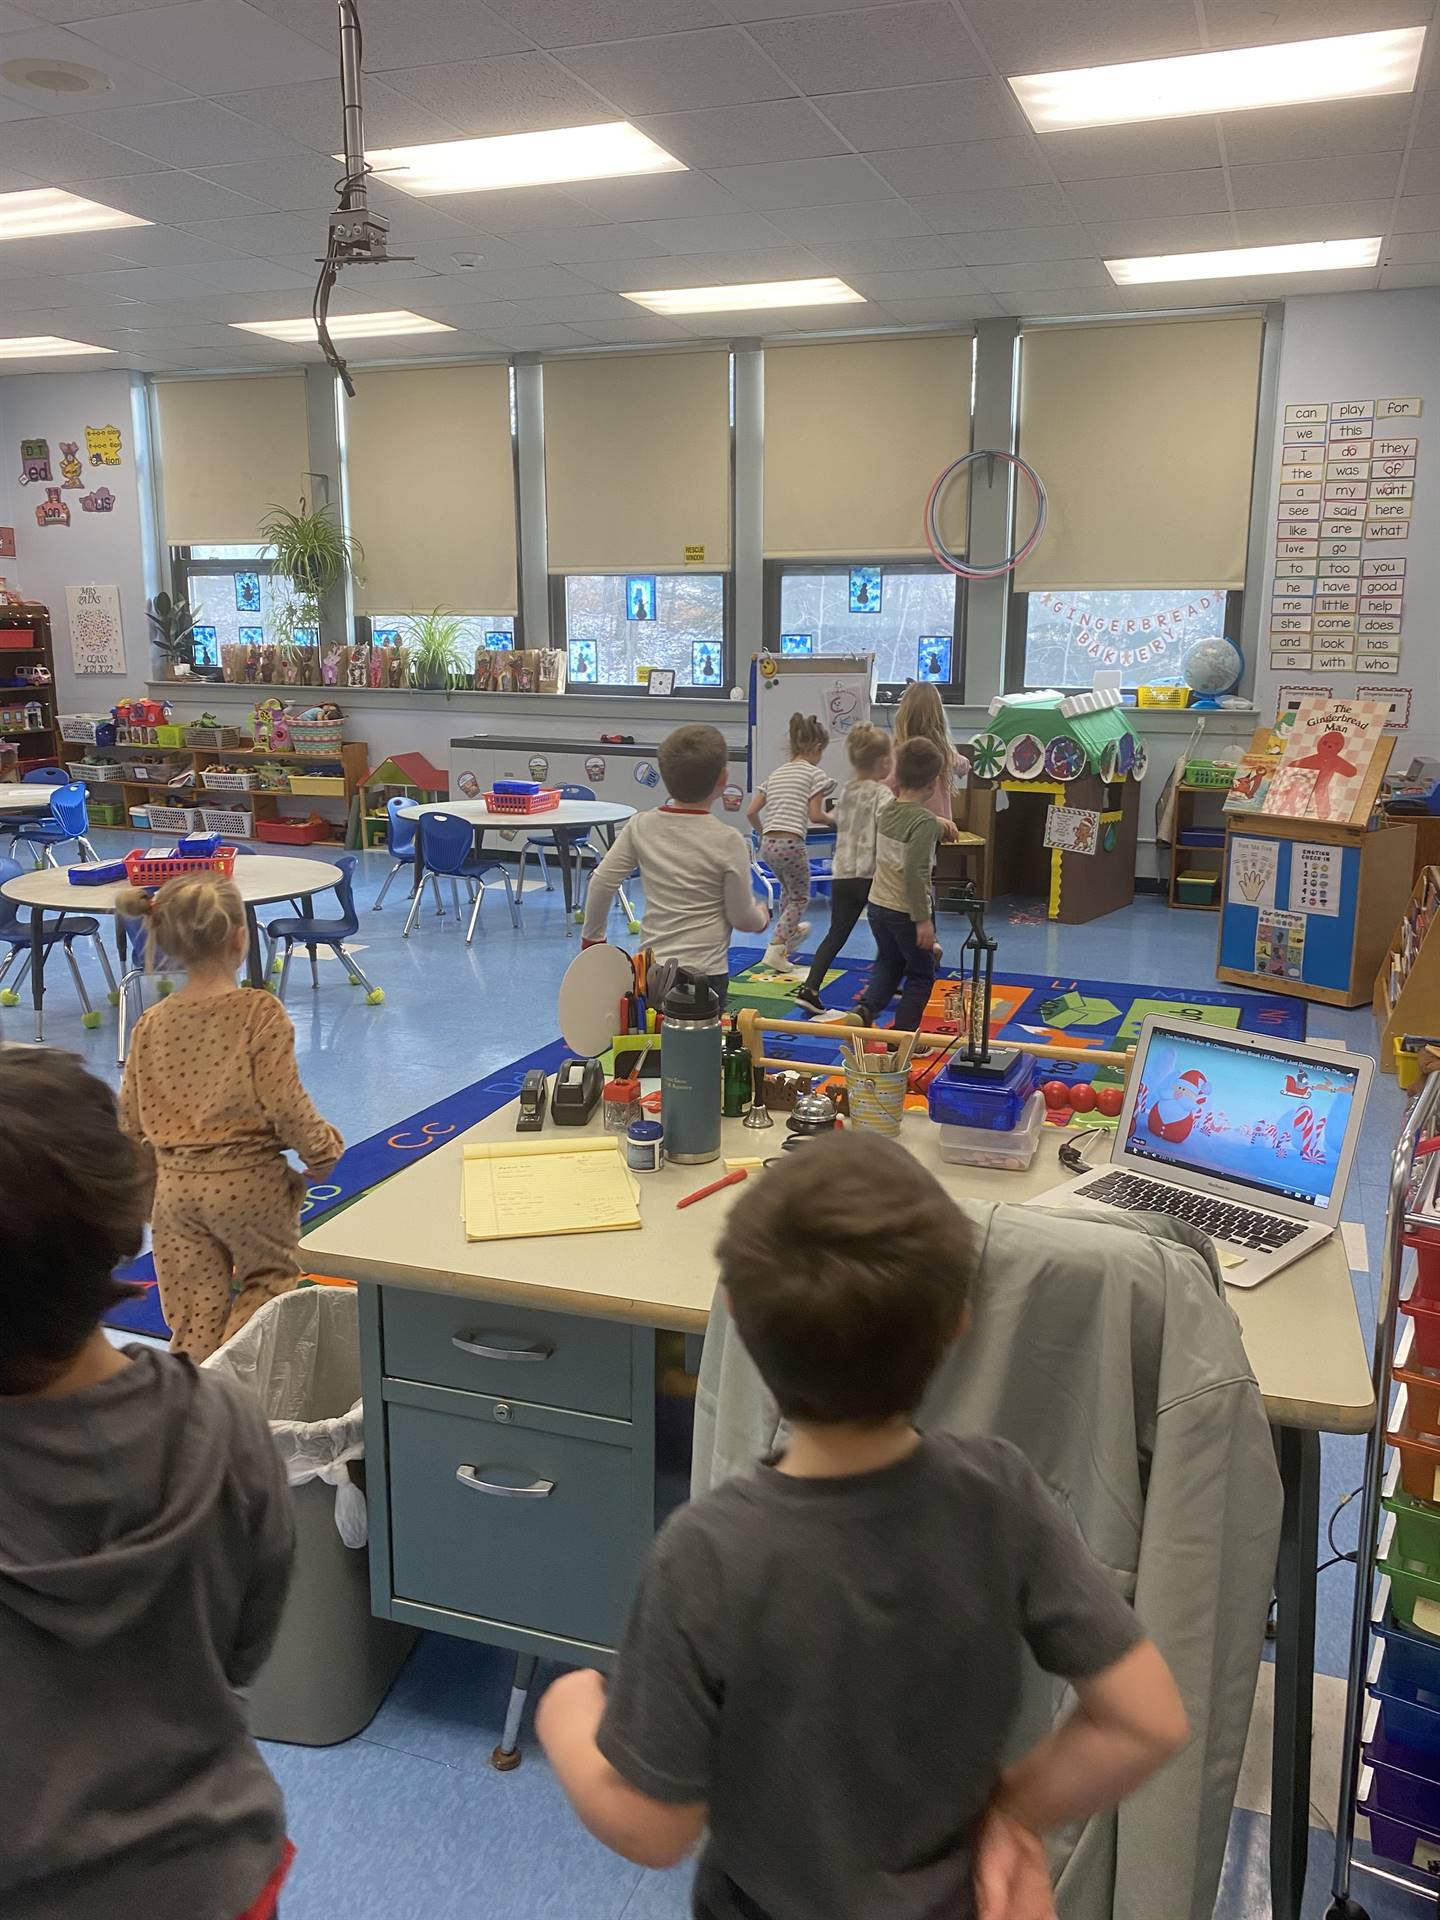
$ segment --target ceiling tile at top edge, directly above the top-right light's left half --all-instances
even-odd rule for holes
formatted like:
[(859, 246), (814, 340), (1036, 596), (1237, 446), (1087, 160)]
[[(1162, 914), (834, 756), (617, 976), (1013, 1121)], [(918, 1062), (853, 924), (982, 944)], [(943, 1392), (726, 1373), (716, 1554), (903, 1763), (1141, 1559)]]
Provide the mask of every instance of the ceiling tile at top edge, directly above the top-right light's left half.
[(1194, 0), (1087, 0), (1085, 6), (964, 0), (1000, 73), (1052, 73), (1202, 50)]

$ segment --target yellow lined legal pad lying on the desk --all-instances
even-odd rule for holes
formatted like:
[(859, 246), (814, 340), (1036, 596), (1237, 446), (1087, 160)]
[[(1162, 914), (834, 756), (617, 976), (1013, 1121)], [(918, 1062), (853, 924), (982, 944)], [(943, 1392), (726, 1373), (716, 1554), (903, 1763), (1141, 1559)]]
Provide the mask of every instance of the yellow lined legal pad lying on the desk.
[(639, 1190), (614, 1139), (484, 1140), (461, 1167), (467, 1240), (639, 1227)]

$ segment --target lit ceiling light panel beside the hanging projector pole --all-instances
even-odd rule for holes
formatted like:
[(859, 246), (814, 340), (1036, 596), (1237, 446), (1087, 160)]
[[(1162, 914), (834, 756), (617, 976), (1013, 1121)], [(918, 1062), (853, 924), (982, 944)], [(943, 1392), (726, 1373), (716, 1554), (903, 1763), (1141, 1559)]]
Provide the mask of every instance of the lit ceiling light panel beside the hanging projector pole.
[(559, 127), (553, 132), (507, 132), (492, 140), (388, 146), (367, 152), (365, 157), (390, 186), (401, 186), (407, 194), (490, 194), (505, 186), (687, 171), (684, 159), (666, 154), (630, 121)]

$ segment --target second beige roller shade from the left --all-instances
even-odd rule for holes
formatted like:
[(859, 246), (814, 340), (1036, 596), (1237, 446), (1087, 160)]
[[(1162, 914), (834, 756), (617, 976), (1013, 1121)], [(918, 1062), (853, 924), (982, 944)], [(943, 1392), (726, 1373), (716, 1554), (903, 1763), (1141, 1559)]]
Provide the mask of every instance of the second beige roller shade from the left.
[(507, 367), (359, 374), (346, 472), (349, 526), (365, 547), (357, 609), (515, 612)]

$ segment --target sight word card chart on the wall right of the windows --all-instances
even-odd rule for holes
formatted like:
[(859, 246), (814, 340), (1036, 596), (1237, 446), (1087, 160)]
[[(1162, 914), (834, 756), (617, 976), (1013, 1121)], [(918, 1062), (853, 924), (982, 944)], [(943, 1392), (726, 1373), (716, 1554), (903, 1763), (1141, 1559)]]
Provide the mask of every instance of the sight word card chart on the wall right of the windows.
[(1419, 465), (1417, 397), (1284, 409), (1269, 664), (1398, 674)]

